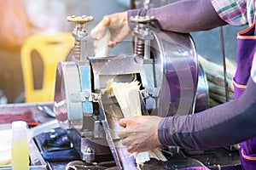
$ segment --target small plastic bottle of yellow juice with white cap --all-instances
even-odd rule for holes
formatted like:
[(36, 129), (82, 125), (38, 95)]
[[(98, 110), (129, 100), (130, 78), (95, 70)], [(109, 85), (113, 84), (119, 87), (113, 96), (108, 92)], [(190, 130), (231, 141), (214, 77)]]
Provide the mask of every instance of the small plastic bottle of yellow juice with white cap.
[(26, 133), (26, 122), (12, 122), (12, 168), (29, 170), (29, 149)]

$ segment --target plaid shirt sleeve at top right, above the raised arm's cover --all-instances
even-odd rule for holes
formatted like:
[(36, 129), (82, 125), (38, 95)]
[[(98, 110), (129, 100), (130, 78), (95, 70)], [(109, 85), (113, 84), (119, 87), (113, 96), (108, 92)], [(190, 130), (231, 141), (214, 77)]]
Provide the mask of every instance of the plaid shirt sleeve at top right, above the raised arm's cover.
[(252, 25), (255, 0), (211, 0), (220, 18), (232, 26)]

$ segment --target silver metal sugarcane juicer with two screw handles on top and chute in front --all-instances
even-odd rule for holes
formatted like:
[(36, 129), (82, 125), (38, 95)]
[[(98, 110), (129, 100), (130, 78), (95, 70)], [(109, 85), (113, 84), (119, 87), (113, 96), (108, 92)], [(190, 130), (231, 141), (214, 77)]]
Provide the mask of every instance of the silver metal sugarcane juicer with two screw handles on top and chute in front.
[[(119, 142), (122, 113), (113, 97), (104, 96), (108, 81), (141, 84), (143, 114), (194, 114), (208, 107), (207, 81), (189, 34), (160, 31), (154, 17), (134, 16), (134, 52), (118, 56), (88, 56), (92, 41), (85, 24), (92, 16), (69, 16), (76, 24), (73, 59), (57, 65), (54, 111), (85, 162), (114, 160), (119, 169), (131, 168)], [(131, 158), (131, 156), (130, 156)]]

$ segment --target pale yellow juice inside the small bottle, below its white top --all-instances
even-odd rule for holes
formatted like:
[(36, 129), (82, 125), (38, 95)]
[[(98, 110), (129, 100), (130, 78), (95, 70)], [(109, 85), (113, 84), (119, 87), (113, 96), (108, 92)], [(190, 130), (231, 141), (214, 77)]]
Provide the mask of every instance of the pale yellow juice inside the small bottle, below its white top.
[(13, 170), (29, 169), (29, 149), (26, 139), (15, 139), (12, 142)]

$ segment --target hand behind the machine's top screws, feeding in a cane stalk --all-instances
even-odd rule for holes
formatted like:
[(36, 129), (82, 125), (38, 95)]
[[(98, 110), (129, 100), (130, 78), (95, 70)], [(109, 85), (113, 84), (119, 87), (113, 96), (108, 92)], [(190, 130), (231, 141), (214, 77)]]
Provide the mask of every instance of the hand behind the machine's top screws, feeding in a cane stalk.
[(110, 14), (103, 17), (102, 21), (90, 33), (90, 36), (95, 40), (95, 48), (101, 48), (97, 47), (97, 42), (104, 36), (107, 29), (109, 29), (111, 34), (108, 47), (113, 48), (131, 32), (128, 26), (127, 12)]

